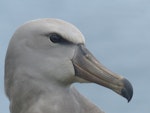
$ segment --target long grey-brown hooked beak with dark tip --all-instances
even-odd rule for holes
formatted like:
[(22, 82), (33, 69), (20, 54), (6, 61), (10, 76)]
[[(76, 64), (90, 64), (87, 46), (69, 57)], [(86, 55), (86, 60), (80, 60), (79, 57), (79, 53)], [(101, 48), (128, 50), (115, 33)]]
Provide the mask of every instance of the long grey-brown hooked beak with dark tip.
[(128, 102), (131, 100), (133, 88), (130, 82), (104, 67), (83, 44), (77, 46), (72, 63), (76, 76), (112, 89)]

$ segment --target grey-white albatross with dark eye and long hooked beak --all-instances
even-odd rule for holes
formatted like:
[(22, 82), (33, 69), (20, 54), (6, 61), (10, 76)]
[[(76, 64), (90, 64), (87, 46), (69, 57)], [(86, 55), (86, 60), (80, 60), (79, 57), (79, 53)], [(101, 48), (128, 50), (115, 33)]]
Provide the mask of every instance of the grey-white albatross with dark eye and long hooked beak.
[(15, 31), (4, 81), (11, 113), (104, 113), (74, 83), (95, 83), (128, 101), (133, 95), (132, 84), (87, 49), (79, 29), (56, 18), (31, 20)]

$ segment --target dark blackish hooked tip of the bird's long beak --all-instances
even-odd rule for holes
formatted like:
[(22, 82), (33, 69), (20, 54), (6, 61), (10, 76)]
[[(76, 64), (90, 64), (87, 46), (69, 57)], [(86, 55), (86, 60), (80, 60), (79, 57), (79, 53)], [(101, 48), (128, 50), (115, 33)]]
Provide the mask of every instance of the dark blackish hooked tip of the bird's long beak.
[(125, 97), (128, 102), (132, 99), (133, 96), (133, 87), (127, 79), (123, 79), (124, 88), (121, 90), (121, 95)]

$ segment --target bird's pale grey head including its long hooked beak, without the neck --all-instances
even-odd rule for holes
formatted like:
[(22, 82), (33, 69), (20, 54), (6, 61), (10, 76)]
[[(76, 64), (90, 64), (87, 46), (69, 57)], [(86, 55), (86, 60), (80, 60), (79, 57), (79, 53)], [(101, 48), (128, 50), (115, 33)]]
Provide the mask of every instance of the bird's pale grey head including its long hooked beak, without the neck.
[(108, 70), (86, 48), (82, 33), (59, 19), (30, 21), (14, 33), (5, 60), (7, 95), (11, 95), (13, 87), (19, 88), (22, 81), (39, 81), (43, 87), (96, 83), (128, 101), (133, 94), (127, 79)]

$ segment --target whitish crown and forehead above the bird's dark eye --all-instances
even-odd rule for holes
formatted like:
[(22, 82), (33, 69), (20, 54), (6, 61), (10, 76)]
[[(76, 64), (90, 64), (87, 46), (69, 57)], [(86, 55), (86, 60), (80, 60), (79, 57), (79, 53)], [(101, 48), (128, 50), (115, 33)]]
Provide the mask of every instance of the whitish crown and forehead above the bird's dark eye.
[(61, 35), (64, 39), (75, 44), (85, 43), (83, 34), (74, 25), (63, 20), (46, 18), (33, 20), (26, 24), (25, 26), (27, 27), (27, 29), (29, 27), (35, 33), (57, 33)]

